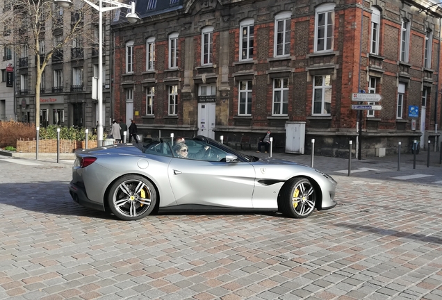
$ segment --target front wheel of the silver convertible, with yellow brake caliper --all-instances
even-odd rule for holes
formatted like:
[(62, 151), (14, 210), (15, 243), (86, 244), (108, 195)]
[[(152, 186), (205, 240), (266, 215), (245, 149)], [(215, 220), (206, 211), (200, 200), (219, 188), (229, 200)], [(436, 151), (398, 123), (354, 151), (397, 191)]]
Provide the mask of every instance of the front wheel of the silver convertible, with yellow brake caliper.
[(309, 217), (315, 210), (316, 190), (307, 178), (290, 179), (281, 193), (278, 204), (284, 215), (297, 219)]

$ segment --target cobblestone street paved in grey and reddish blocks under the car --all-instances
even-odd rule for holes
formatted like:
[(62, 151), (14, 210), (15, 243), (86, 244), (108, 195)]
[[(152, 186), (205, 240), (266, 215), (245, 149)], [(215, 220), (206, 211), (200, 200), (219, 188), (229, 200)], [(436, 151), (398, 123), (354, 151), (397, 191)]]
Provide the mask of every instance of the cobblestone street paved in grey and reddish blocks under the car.
[(72, 201), (68, 163), (0, 169), (0, 299), (442, 298), (440, 185), (331, 174), (338, 206), (307, 219), (123, 222)]

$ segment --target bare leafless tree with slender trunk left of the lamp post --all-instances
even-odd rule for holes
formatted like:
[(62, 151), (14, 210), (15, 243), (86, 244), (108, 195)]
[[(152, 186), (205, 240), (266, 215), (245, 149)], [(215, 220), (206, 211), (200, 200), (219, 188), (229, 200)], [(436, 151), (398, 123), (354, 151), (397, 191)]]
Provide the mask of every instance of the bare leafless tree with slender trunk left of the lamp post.
[[(94, 18), (89, 18), (86, 24), (88, 15), (93, 15), (90, 6), (83, 5), (81, 0), (69, 8), (56, 6), (54, 0), (4, 0), (0, 45), (15, 53), (26, 51), (27, 57), (35, 56), (35, 126), (40, 125), (40, 83), (44, 68), (79, 35), (83, 43), (90, 44), (86, 40), (93, 39), (90, 24)], [(44, 43), (48, 32), (50, 44)]]

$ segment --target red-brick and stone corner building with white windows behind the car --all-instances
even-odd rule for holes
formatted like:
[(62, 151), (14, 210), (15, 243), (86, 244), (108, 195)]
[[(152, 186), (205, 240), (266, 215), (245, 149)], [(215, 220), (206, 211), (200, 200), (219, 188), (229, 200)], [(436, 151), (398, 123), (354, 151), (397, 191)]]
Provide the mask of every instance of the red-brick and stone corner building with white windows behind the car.
[[(440, 23), (429, 1), (137, 1), (114, 23), (115, 118), (141, 135), (206, 135), (256, 147), (305, 123), (306, 153), (410, 151), (439, 133)], [(352, 94), (382, 110), (353, 110)], [(367, 103), (366, 103), (367, 104)], [(370, 103), (368, 103), (370, 104)], [(416, 115), (417, 114), (417, 115)], [(300, 127), (302, 128), (302, 127)], [(421, 138), (422, 137), (422, 138)]]

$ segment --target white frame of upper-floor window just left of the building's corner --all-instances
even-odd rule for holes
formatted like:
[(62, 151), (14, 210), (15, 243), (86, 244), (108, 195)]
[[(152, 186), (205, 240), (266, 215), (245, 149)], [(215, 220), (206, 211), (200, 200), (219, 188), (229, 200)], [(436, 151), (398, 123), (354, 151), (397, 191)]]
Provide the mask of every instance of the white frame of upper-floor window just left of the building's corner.
[[(322, 6), (319, 6), (315, 10), (315, 44), (314, 44), (314, 51), (315, 53), (320, 52), (330, 52), (334, 49), (334, 3), (327, 3)], [(330, 15), (329, 15), (330, 13)], [(325, 25), (324, 27), (327, 28), (328, 26), (331, 26), (331, 35), (328, 35), (328, 31), (324, 31), (324, 36), (319, 36), (319, 29), (321, 26), (319, 26), (319, 17), (320, 15), (324, 15), (325, 17)], [(318, 40), (323, 39), (324, 40), (324, 49), (318, 49)], [(331, 39), (331, 45), (330, 49), (327, 48), (327, 39)]]

